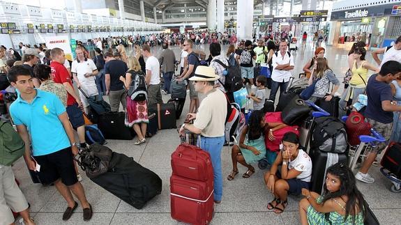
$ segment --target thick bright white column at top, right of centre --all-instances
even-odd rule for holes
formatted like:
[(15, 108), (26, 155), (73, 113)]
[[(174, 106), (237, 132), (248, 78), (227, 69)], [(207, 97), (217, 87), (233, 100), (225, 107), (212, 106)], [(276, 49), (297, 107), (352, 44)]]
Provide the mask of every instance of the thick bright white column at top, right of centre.
[(236, 2), (236, 36), (238, 40), (252, 40), (253, 1)]

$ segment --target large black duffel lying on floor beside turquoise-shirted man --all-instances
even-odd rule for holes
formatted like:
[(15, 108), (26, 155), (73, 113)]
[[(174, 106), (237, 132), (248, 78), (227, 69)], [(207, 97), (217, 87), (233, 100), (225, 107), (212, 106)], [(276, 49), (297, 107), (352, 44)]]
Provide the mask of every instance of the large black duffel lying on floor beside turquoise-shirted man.
[(162, 180), (156, 173), (120, 153), (113, 153), (107, 173), (91, 180), (137, 209), (162, 192)]

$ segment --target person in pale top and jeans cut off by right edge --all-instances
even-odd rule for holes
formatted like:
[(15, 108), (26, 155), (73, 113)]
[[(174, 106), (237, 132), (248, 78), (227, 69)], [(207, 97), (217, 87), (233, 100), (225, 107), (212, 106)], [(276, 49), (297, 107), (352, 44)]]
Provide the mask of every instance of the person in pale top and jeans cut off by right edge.
[[(391, 90), (393, 91), (393, 100), (397, 102), (397, 105), (401, 105), (401, 77), (393, 80), (390, 84)], [(393, 119), (393, 131), (391, 132), (390, 141), (401, 142), (401, 119), (400, 112), (394, 111)]]

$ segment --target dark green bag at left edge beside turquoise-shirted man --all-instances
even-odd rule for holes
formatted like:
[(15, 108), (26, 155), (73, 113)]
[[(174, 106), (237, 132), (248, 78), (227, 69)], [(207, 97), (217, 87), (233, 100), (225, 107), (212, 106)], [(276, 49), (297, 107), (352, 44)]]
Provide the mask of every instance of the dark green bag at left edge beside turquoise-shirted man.
[(0, 164), (11, 166), (24, 155), (25, 143), (13, 125), (0, 121)]

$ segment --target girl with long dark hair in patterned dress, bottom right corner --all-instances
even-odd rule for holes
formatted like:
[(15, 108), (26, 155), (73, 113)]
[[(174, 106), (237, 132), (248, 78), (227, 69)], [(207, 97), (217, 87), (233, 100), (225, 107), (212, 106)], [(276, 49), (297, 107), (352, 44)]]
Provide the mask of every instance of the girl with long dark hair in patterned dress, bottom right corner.
[(363, 195), (354, 173), (342, 163), (328, 167), (324, 195), (302, 189), (301, 224), (363, 224)]

